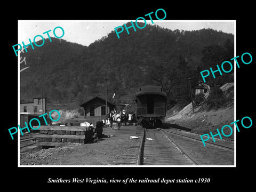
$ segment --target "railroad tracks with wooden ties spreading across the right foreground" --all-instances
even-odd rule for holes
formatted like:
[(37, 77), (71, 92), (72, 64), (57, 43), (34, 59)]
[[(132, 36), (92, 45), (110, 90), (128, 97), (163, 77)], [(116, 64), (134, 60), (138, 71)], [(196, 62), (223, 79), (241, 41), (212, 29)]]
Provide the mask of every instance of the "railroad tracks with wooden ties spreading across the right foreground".
[(140, 127), (137, 131), (139, 138), (131, 141), (118, 165), (234, 165), (233, 142), (207, 142), (204, 147), (198, 133)]

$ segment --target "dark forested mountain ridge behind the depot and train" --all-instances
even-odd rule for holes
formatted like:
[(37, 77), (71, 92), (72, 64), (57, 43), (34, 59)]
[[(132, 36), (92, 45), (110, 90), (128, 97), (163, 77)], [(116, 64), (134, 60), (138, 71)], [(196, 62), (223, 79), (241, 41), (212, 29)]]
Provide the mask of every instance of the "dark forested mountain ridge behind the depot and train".
[[(185, 106), (190, 102), (188, 77), (193, 85), (202, 80), (201, 70), (234, 57), (234, 35), (212, 29), (172, 31), (147, 25), (130, 35), (121, 33), (119, 39), (111, 31), (88, 47), (52, 40), (21, 53), (27, 65), (20, 68), (29, 66), (20, 73), (21, 101), (43, 95), (49, 103), (79, 105), (95, 95), (105, 97), (108, 78), (110, 101), (116, 92), (117, 102), (129, 103), (141, 85), (153, 84), (163, 86), (169, 107)], [(220, 86), (234, 81), (230, 74), (215, 80)]]

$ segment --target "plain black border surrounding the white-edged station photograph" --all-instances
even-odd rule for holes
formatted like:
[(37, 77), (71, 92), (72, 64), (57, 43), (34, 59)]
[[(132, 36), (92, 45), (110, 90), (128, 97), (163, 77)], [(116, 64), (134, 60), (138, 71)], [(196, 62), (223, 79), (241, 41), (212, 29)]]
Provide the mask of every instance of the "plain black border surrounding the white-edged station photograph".
[[(64, 2), (63, 2), (64, 3)], [(138, 3), (138, 2), (137, 2)], [(211, 178), (210, 183), (184, 183), (186, 187), (195, 187), (195, 189), (215, 187), (216, 189), (228, 189), (234, 186), (246, 184), (249, 187), (253, 184), (253, 172), (251, 171), (253, 161), (253, 140), (255, 115), (252, 113), (253, 104), (253, 73), (254, 57), (253, 43), (255, 42), (254, 25), (253, 25), (253, 4), (241, 2), (223, 5), (220, 2), (205, 2), (204, 4), (182, 2), (173, 4), (156, 4), (156, 2), (143, 3), (142, 6), (132, 2), (98, 2), (98, 5), (92, 5), (86, 2), (68, 2), (67, 6), (59, 4), (45, 3), (38, 5), (10, 6), (10, 10), (2, 12), (5, 30), (2, 30), (4, 37), (4, 46), (2, 45), (2, 59), (6, 58), (2, 67), (2, 94), (4, 95), (5, 107), (2, 115), (2, 138), (4, 138), (4, 149), (2, 164), (4, 185), (11, 187), (18, 184), (19, 188), (29, 188), (37, 186), (42, 189), (51, 189), (50, 187), (66, 188), (69, 186), (81, 187), (83, 190), (94, 187), (125, 187), (134, 188), (138, 184), (133, 183), (123, 185), (108, 183), (92, 185), (89, 183), (47, 183), (48, 178), (105, 178), (105, 179), (197, 179)], [(18, 3), (19, 4), (19, 3)], [(250, 65), (241, 65), (237, 69), (237, 89), (236, 89), (236, 116), (242, 119), (249, 116), (253, 119), (253, 126), (250, 129), (241, 129), (237, 132), (237, 167), (18, 167), (18, 138), (11, 140), (7, 131), (10, 127), (18, 125), (18, 65), (17, 57), (13, 54), (12, 45), (18, 42), (18, 20), (125, 20), (137, 19), (143, 15), (155, 12), (157, 9), (164, 9), (167, 13), (165, 20), (236, 20), (236, 53), (242, 55), (244, 52), (251, 53), (253, 61)], [(9, 17), (10, 16), (10, 17)], [(6, 30), (7, 29), (7, 30)], [(6, 54), (7, 53), (7, 54)], [(255, 58), (256, 59), (256, 58)], [(6, 73), (7, 72), (7, 73)], [(4, 75), (6, 74), (6, 75)], [(251, 174), (252, 173), (252, 174)], [(15, 184), (14, 184), (15, 183)], [(172, 188), (180, 187), (179, 184), (164, 185), (142, 184), (143, 187), (163, 187)], [(181, 186), (183, 186), (181, 185)], [(114, 188), (113, 188), (114, 189)], [(121, 189), (121, 188), (118, 188)]]

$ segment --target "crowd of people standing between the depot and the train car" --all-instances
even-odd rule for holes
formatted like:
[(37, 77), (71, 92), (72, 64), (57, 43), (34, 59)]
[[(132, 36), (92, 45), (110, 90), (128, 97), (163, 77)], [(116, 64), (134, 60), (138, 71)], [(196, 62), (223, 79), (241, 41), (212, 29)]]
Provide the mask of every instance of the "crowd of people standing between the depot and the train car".
[[(135, 121), (133, 111), (116, 111), (112, 110), (110, 114), (107, 114), (107, 126), (111, 127), (113, 126), (113, 122), (116, 123), (118, 130), (120, 129), (121, 125), (126, 126), (127, 122), (132, 123)], [(103, 124), (105, 124), (104, 119), (102, 119)]]

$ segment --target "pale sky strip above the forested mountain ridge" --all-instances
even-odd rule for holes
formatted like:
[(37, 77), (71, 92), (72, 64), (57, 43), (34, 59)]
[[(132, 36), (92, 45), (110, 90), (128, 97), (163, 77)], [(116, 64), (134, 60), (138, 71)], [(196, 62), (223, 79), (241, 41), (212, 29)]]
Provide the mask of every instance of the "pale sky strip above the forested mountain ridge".
[[(51, 30), (49, 35), (54, 37), (53, 29), (55, 27), (62, 27), (65, 34), (62, 39), (68, 42), (78, 43), (81, 45), (89, 46), (94, 41), (107, 36), (115, 27), (122, 26), (126, 22), (131, 20), (19, 20), (18, 21), (18, 42), (21, 44), (23, 41), (25, 44), (29, 43), (29, 38), (33, 41), (36, 35), (42, 35), (47, 38), (47, 34), (43, 34), (45, 31)], [(132, 20), (135, 25), (135, 20)], [(143, 20), (139, 20), (143, 22)], [(146, 20), (151, 24), (150, 20)], [(217, 31), (223, 31), (225, 33), (235, 34), (235, 20), (153, 20), (154, 24), (163, 28), (171, 30), (199, 30), (211, 28)], [(130, 28), (129, 30), (133, 30)], [(137, 30), (143, 30), (138, 29)], [(56, 35), (61, 36), (62, 32), (60, 28), (55, 30)], [(123, 33), (126, 33), (124, 30)], [(127, 34), (128, 35), (128, 34)], [(117, 37), (118, 38), (118, 37)], [(36, 38), (36, 41), (41, 40), (40, 37)]]

